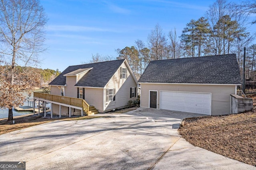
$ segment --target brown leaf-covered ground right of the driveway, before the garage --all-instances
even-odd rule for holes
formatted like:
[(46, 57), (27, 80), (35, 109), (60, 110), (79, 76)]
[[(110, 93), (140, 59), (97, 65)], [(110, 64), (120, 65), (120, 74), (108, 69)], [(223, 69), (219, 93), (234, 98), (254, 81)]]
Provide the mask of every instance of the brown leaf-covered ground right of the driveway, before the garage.
[[(256, 102), (256, 95), (250, 96)], [(194, 146), (256, 166), (256, 109), (185, 119), (180, 135)]]

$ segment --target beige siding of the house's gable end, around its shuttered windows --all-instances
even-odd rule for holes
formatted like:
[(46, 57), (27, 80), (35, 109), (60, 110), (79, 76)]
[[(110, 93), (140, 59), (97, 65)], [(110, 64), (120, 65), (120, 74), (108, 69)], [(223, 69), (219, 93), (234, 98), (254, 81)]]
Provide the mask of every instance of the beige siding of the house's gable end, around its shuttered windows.
[[(128, 68), (125, 63), (122, 64), (121, 67)], [(127, 79), (120, 79), (120, 69), (116, 71), (114, 76), (110, 79), (108, 84), (106, 85), (106, 89), (114, 88), (116, 91), (116, 100), (111, 102), (105, 102), (105, 110), (111, 110), (114, 108), (124, 107), (128, 105), (129, 100), (136, 100), (137, 93), (135, 98), (130, 98), (130, 88), (136, 87), (137, 91), (137, 84), (134, 81), (129, 69), (127, 69)], [(104, 92), (104, 98), (106, 97), (106, 90)], [(104, 100), (106, 101), (106, 100)]]

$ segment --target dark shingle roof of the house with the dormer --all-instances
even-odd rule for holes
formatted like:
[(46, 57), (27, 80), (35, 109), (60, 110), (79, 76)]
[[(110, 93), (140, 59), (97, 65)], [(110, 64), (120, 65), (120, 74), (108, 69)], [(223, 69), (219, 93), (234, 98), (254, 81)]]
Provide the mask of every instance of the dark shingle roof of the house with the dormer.
[(64, 74), (74, 72), (78, 69), (93, 67), (77, 82), (75, 86), (103, 88), (112, 78), (124, 60), (125, 59), (69, 66), (59, 76), (52, 80), (49, 85), (64, 86), (66, 84), (66, 76), (64, 76)]

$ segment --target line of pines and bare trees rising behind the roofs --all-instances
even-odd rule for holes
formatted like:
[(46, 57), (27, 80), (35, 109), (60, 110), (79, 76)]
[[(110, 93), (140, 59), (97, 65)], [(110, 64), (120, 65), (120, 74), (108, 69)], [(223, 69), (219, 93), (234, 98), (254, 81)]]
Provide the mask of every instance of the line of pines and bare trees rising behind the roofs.
[[(116, 59), (126, 59), (135, 76), (139, 78), (152, 60), (178, 59), (235, 53), (242, 70), (243, 48), (246, 49), (246, 77), (255, 70), (255, 33), (250, 33), (246, 24), (249, 14), (256, 13), (256, 2), (234, 4), (217, 0), (205, 16), (190, 20), (177, 35), (176, 29), (166, 36), (159, 24), (148, 34), (147, 40), (137, 39), (134, 46), (116, 49)], [(253, 23), (256, 23), (253, 21)], [(92, 56), (91, 62), (109, 61), (112, 56)]]

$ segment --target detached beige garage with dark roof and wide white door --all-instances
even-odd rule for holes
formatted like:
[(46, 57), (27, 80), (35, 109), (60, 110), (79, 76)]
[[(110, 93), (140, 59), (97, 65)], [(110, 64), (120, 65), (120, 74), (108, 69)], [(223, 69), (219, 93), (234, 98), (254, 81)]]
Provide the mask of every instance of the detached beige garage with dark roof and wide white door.
[(241, 76), (228, 54), (151, 61), (138, 82), (141, 107), (221, 115), (231, 112)]

